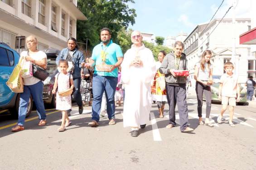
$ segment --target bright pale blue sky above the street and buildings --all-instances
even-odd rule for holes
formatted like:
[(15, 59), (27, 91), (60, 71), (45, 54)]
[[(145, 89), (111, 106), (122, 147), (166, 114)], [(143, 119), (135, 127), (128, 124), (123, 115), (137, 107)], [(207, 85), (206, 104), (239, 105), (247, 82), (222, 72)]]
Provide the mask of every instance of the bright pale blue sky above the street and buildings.
[[(222, 18), (234, 0), (224, 0), (216, 17)], [(252, 0), (235, 0), (236, 17), (250, 18)], [(155, 36), (177, 36), (180, 32), (189, 34), (201, 23), (208, 23), (222, 0), (135, 0), (129, 4), (136, 10), (135, 24), (129, 28)], [(232, 18), (229, 10), (225, 18)]]

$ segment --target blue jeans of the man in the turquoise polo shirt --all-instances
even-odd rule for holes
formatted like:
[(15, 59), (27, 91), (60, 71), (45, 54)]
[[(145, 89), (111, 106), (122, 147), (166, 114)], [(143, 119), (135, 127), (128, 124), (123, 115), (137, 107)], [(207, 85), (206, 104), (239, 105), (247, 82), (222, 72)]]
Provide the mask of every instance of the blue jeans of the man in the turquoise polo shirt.
[(115, 119), (115, 93), (116, 93), (117, 77), (100, 76), (93, 74), (92, 78), (92, 120), (100, 120), (101, 100), (103, 92), (106, 95), (106, 112), (108, 119)]

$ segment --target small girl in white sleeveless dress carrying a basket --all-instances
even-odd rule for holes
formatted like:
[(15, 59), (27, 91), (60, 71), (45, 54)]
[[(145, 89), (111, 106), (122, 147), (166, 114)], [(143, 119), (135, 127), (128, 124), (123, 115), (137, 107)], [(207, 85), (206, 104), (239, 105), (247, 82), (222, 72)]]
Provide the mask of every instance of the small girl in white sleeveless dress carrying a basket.
[[(59, 96), (58, 92), (63, 92), (68, 89), (73, 89), (73, 78), (72, 75), (69, 75), (67, 72), (68, 69), (68, 61), (60, 60), (59, 69), (61, 73), (55, 75), (55, 82), (53, 86), (53, 94), (56, 93), (56, 110), (61, 110), (62, 112), (62, 123), (61, 127), (58, 129), (59, 132), (63, 132), (66, 130), (65, 127), (69, 126), (72, 122), (68, 118), (68, 110), (71, 109), (71, 95), (68, 96)], [(58, 87), (58, 92), (56, 89)]]

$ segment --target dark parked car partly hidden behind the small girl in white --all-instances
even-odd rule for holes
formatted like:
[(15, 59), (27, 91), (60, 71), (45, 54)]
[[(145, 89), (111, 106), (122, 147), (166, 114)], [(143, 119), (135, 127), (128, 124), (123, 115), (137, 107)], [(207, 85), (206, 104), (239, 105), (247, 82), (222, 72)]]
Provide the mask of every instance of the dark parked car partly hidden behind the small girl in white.
[(49, 48), (44, 50), (44, 52), (47, 55), (46, 71), (49, 73), (49, 76), (43, 81), (43, 101), (44, 103), (51, 104), (53, 107), (56, 107), (56, 96), (52, 93), (52, 90), (55, 81), (54, 76), (58, 73), (56, 58), (60, 51)]

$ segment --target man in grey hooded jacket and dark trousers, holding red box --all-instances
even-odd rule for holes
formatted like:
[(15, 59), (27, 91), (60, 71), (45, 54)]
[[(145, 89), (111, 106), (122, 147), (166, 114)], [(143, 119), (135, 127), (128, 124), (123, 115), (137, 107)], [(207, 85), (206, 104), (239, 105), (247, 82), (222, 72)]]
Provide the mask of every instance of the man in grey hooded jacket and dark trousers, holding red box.
[(181, 132), (191, 132), (188, 127), (188, 105), (186, 101), (186, 77), (177, 77), (174, 70), (186, 70), (187, 59), (182, 53), (184, 45), (181, 41), (174, 44), (174, 53), (169, 53), (164, 57), (159, 72), (165, 74), (167, 101), (169, 104), (169, 124), (166, 128), (173, 128), (175, 123), (175, 106), (178, 104), (179, 121)]

